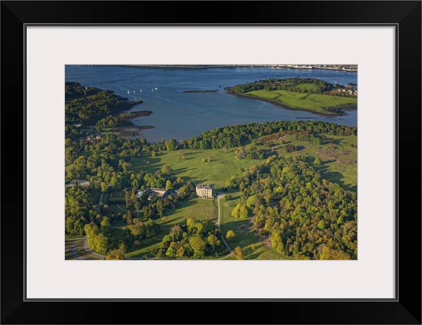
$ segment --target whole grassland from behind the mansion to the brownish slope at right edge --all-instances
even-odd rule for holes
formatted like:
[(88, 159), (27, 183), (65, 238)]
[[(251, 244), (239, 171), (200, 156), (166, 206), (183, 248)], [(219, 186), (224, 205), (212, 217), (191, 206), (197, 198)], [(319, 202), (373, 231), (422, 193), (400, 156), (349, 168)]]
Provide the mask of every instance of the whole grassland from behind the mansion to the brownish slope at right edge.
[[(319, 156), (322, 165), (314, 166), (318, 171), (324, 173), (324, 177), (329, 181), (338, 183), (345, 189), (353, 191), (357, 190), (357, 144), (358, 138), (355, 136), (333, 136), (328, 135), (328, 139), (321, 146), (306, 141), (295, 141), (294, 135), (284, 136), (286, 144), (292, 143), (298, 146), (298, 151), (286, 153), (283, 146), (277, 150), (282, 155), (305, 155), (306, 162), (313, 166), (313, 160)], [(280, 138), (281, 139), (281, 138)], [(328, 141), (333, 141), (329, 144)], [(257, 139), (260, 143), (260, 139)], [(278, 144), (278, 140), (274, 143)], [(353, 144), (354, 147), (350, 147)], [(242, 175), (240, 169), (249, 168), (256, 164), (260, 164), (267, 159), (268, 156), (274, 154), (268, 148), (259, 145), (259, 148), (265, 150), (264, 159), (235, 159), (234, 149), (209, 150), (190, 150), (186, 149), (186, 159), (178, 161), (177, 151), (162, 151), (156, 157), (152, 157), (151, 153), (146, 153), (142, 158), (132, 159), (135, 172), (145, 170), (148, 173), (154, 173), (160, 170), (163, 165), (168, 165), (173, 169), (173, 174), (182, 177), (185, 182), (190, 180), (197, 184), (214, 184), (217, 191), (221, 191), (221, 187), (225, 186), (225, 182), (232, 175)], [(321, 147), (321, 149), (319, 149)], [(334, 148), (336, 147), (336, 148)], [(347, 154), (342, 154), (342, 151)], [(203, 157), (210, 157), (209, 163), (202, 163)], [(146, 162), (148, 161), (149, 164)]]

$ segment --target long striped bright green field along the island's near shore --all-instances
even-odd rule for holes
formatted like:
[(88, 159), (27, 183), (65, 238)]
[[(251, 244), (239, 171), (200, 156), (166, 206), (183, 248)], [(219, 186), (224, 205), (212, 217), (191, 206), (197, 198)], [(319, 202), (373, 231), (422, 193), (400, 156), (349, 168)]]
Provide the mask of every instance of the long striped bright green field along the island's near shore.
[[(307, 84), (303, 84), (307, 85)], [(270, 99), (287, 104), (292, 108), (304, 108), (323, 112), (322, 107), (336, 107), (341, 105), (357, 105), (357, 98), (347, 98), (332, 95), (306, 94), (288, 90), (254, 90), (247, 94), (257, 96), (264, 99)]]

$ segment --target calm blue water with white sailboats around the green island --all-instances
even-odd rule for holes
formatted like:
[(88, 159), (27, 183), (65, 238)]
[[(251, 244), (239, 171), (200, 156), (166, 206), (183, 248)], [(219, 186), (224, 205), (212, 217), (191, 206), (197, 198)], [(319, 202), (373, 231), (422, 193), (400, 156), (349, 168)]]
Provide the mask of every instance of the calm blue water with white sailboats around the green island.
[[(318, 78), (330, 83), (358, 83), (357, 73), (331, 70), (291, 70), (273, 68), (165, 69), (125, 66), (65, 67), (65, 80), (84, 86), (113, 90), (117, 95), (144, 104), (132, 111), (153, 114), (133, 120), (136, 125), (152, 125), (143, 135), (150, 142), (188, 139), (216, 127), (272, 120), (322, 120), (357, 126), (357, 110), (345, 116), (322, 117), (308, 112), (279, 108), (269, 103), (229, 95), (225, 87), (267, 78)], [(155, 90), (155, 88), (157, 88)], [(140, 90), (142, 89), (142, 92)], [(185, 93), (185, 90), (219, 90), (215, 93)], [(129, 91), (129, 93), (128, 93)]]

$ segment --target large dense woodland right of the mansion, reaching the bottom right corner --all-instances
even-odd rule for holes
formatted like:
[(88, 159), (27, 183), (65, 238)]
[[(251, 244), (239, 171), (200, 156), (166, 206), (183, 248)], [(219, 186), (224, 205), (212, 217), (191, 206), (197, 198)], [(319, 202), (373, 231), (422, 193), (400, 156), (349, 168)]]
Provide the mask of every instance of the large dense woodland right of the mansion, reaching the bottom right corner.
[[(357, 259), (357, 197), (322, 179), (304, 157), (271, 156), (230, 185), (242, 193), (233, 216), (296, 259)], [(327, 248), (325, 248), (327, 247)]]

